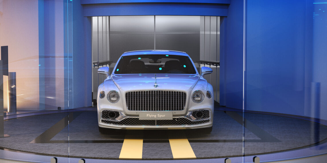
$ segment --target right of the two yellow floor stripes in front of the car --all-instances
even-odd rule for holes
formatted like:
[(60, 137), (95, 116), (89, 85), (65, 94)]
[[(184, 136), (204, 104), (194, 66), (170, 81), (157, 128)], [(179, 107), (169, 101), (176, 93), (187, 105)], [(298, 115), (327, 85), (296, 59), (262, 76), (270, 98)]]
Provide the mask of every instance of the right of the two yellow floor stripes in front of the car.
[(196, 158), (184, 131), (171, 132), (169, 134), (169, 143), (174, 159)]

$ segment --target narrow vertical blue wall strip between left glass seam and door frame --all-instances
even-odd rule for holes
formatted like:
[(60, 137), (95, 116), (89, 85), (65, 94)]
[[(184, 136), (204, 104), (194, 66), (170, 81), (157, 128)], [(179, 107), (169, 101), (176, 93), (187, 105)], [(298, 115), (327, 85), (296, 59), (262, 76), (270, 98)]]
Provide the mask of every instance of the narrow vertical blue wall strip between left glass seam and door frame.
[[(71, 108), (92, 106), (91, 17), (83, 17), (79, 0), (72, 6), (72, 89)], [(70, 27), (70, 25), (68, 25)]]

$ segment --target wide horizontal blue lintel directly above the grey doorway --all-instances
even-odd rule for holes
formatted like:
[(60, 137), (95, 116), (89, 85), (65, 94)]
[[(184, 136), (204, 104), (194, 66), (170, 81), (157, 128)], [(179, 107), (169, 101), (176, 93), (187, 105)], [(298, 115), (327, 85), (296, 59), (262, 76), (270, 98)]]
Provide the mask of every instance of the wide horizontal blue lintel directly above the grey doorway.
[(228, 4), (207, 3), (108, 3), (83, 5), (84, 16), (200, 15), (227, 16)]

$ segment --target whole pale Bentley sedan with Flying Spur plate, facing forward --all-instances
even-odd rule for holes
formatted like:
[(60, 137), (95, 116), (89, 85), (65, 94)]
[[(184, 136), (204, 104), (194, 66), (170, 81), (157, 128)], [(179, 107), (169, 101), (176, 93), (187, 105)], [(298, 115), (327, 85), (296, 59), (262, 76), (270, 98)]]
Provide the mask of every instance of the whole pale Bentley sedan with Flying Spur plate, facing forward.
[(144, 50), (123, 53), (98, 87), (99, 131), (114, 129), (196, 129), (211, 132), (213, 87), (185, 52)]

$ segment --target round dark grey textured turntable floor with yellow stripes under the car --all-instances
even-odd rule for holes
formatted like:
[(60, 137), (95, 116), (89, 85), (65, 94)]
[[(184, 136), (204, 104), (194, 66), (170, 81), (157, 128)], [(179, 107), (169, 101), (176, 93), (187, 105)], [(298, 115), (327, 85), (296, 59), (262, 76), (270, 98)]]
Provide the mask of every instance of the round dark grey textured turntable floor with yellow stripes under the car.
[[(259, 113), (244, 116), (245, 128), (242, 112), (215, 111), (211, 134), (122, 130), (103, 135), (98, 132), (96, 111), (43, 114), (6, 120), (5, 133), (11, 137), (2, 138), (0, 146), (53, 156), (68, 156), (69, 146), (69, 157), (80, 158), (226, 158), (243, 156), (243, 132), (245, 156), (305, 148), (327, 138), (327, 126), (310, 121)], [(135, 155), (126, 155), (129, 149)]]

